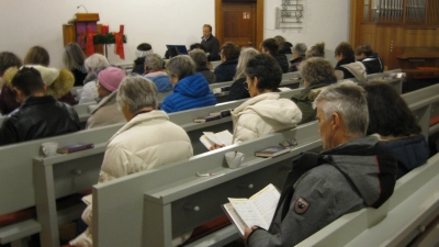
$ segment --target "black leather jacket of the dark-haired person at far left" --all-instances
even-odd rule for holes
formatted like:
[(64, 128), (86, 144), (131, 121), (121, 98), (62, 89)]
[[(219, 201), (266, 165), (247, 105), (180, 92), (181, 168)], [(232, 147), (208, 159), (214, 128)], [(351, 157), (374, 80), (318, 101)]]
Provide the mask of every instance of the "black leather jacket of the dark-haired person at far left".
[(0, 145), (77, 132), (76, 111), (52, 96), (29, 97), (9, 114), (0, 128)]

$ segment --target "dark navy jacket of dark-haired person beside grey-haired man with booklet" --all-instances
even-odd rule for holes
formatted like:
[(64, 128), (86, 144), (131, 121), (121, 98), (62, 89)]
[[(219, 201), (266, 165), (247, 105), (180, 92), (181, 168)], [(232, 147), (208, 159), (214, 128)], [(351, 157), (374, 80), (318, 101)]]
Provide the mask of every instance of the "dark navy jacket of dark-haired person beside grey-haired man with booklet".
[(424, 135), (381, 142), (381, 145), (397, 160), (396, 179), (399, 179), (416, 167), (424, 165), (430, 155)]

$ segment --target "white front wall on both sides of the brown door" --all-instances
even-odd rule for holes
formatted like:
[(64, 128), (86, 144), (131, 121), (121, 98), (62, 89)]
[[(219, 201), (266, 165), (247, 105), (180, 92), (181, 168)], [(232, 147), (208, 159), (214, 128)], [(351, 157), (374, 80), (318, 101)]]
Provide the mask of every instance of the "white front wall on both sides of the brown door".
[[(281, 0), (264, 2), (264, 37), (284, 36), (295, 44), (308, 46), (325, 41), (333, 58), (334, 48), (349, 34), (349, 0), (301, 0), (305, 4), (304, 29), (274, 30), (274, 9)], [(112, 64), (132, 63), (134, 50), (142, 42), (153, 45), (156, 53), (164, 55), (166, 44), (190, 45), (201, 41), (202, 25), (215, 26), (214, 0), (1, 0), (0, 3), (0, 50), (10, 50), (24, 57), (33, 45), (44, 46), (50, 55), (53, 67), (63, 67), (63, 24), (85, 4), (89, 12), (98, 12), (99, 23), (110, 24), (110, 31), (125, 25), (127, 44), (125, 60), (114, 56), (109, 46)], [(215, 33), (215, 30), (213, 30)], [(334, 59), (334, 58), (333, 58)]]

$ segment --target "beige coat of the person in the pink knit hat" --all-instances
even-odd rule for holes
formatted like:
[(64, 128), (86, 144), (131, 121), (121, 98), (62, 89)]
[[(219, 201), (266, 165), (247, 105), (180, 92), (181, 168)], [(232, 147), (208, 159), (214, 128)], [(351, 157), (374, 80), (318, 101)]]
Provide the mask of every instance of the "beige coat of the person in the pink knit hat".
[(98, 108), (90, 113), (86, 128), (102, 127), (116, 123), (126, 123), (122, 111), (117, 109), (117, 90), (103, 98)]

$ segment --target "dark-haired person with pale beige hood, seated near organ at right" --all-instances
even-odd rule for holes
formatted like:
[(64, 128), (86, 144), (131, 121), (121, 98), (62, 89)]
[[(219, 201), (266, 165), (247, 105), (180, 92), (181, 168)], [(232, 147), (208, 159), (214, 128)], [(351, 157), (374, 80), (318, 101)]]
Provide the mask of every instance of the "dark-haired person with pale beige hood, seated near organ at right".
[(338, 79), (356, 78), (359, 82), (365, 81), (365, 67), (360, 61), (356, 61), (349, 43), (341, 42), (336, 47), (335, 57), (338, 60), (335, 69), (340, 71)]

